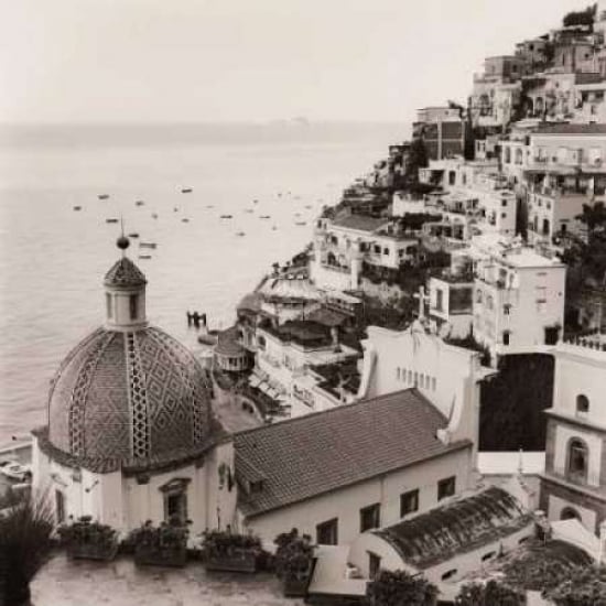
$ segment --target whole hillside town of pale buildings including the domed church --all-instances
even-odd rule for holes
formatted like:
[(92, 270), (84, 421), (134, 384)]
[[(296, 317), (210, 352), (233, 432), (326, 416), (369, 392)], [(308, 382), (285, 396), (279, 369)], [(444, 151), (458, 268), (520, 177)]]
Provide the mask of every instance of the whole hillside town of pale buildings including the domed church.
[[(296, 527), (321, 545), (310, 592), (323, 596), (362, 595), (379, 569), (403, 569), (450, 599), (537, 527), (603, 558), (604, 284), (575, 293), (581, 329), (566, 333), (561, 258), (588, 237), (583, 205), (605, 195), (605, 32), (606, 6), (593, 26), (487, 58), (467, 108), (419, 111), (426, 162), (414, 186), (415, 143), (392, 145), (318, 217), (307, 263), (245, 296), (213, 362), (273, 402), (258, 428), (215, 428), (195, 364), (147, 324), (144, 277), (118, 261), (106, 327), (66, 359), (48, 428), (35, 432), (34, 483), (52, 485), (57, 516), (128, 530), (180, 511), (194, 531), (230, 523), (267, 544)], [(407, 292), (407, 274), (432, 258), (442, 266)], [(404, 329), (365, 324), (369, 300), (402, 297), (416, 310)], [(477, 448), (479, 390), (521, 354), (554, 359), (544, 464), (516, 453), (497, 468)]]

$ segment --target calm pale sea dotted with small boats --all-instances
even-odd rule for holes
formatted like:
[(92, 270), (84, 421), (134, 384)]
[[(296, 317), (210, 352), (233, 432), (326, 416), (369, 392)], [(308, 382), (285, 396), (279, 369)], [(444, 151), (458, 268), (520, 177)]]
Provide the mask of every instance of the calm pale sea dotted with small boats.
[(404, 134), (389, 125), (0, 130), (0, 444), (44, 422), (56, 367), (102, 322), (119, 235), (106, 218), (122, 215), (126, 231), (158, 242), (150, 260), (130, 249), (148, 277), (149, 317), (194, 347), (185, 311), (227, 326), (271, 263), (310, 241), (322, 205)]

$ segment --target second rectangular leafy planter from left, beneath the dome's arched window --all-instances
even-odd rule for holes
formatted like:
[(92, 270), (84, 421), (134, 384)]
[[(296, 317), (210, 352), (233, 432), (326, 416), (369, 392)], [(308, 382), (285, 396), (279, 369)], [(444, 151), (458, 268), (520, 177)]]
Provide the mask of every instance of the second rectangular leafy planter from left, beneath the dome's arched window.
[(187, 562), (187, 537), (190, 531), (181, 520), (172, 518), (154, 527), (148, 520), (132, 530), (127, 539), (134, 551), (139, 565), (184, 566)]

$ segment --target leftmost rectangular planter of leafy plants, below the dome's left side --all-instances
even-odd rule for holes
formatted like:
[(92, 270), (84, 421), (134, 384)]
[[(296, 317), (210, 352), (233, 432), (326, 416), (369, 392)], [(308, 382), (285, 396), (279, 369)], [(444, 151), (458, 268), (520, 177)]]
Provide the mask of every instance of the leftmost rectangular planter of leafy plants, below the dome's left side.
[(57, 529), (69, 558), (110, 561), (118, 553), (118, 532), (107, 524), (82, 516), (75, 522)]

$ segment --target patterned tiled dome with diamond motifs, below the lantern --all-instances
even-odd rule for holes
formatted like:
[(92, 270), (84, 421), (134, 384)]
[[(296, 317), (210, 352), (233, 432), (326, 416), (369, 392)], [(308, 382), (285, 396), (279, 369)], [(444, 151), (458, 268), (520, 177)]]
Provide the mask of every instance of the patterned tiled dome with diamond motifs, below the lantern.
[(65, 358), (48, 398), (50, 442), (83, 461), (158, 458), (196, 448), (210, 432), (203, 369), (151, 326), (97, 329)]

